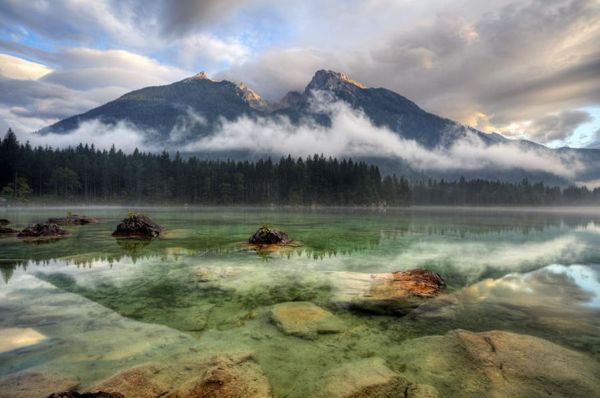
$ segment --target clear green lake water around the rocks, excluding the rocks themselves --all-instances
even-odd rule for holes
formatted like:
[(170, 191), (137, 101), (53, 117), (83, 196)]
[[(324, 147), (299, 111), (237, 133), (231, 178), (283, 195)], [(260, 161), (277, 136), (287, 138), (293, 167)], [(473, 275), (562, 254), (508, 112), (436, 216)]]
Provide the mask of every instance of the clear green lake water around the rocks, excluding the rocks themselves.
[[(45, 337), (5, 344), (0, 376), (47, 369), (91, 384), (148, 361), (252, 352), (276, 396), (303, 397), (344, 361), (378, 356), (402, 371), (399, 343), (456, 328), (535, 335), (600, 360), (599, 209), (142, 209), (168, 229), (153, 241), (111, 237), (134, 209), (72, 210), (101, 222), (48, 243), (0, 238), (0, 334)], [(0, 218), (24, 226), (65, 212)], [(303, 245), (248, 250), (263, 223)], [(417, 267), (448, 287), (409, 316), (351, 312), (336, 299), (349, 272)], [(269, 317), (286, 301), (312, 301), (347, 330), (287, 336)]]

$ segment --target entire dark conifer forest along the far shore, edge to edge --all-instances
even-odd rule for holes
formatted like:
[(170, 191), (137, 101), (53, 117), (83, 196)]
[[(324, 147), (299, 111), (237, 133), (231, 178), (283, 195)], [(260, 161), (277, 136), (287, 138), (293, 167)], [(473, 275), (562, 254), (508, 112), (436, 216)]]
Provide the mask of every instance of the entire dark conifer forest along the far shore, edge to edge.
[(419, 180), (322, 155), (278, 161), (201, 160), (93, 145), (56, 149), (0, 142), (0, 198), (6, 203), (203, 205), (574, 205), (600, 203), (600, 189), (541, 182)]

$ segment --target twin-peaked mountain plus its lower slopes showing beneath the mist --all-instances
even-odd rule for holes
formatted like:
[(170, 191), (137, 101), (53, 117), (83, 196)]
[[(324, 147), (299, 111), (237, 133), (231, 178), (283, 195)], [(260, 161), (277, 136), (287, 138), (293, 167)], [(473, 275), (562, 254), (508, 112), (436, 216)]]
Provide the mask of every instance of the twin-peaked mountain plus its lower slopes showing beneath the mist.
[[(586, 163), (592, 162), (589, 163), (592, 165), (600, 164), (599, 150), (554, 150), (531, 141), (509, 140), (500, 134), (486, 134), (427, 112), (394, 91), (365, 87), (343, 73), (326, 70), (317, 71), (303, 91), (291, 91), (280, 101), (273, 103), (264, 100), (243, 83), (213, 81), (206, 73), (199, 73), (169, 85), (132, 91), (88, 112), (61, 120), (42, 129), (40, 133), (69, 133), (82, 123), (92, 120), (100, 120), (109, 125), (128, 122), (143, 131), (147, 141), (155, 147), (158, 144), (166, 148), (179, 148), (199, 138), (218, 134), (224, 121), (235, 121), (240, 117), (274, 121), (285, 117), (293, 124), (316, 123), (329, 126), (332, 123), (331, 114), (323, 107), (315, 106), (315, 102), (318, 102), (319, 96), (323, 94), (330, 100), (341, 100), (353, 109), (361, 110), (373, 125), (387, 127), (400, 137), (414, 140), (424, 148), (450, 148), (455, 143), (464, 142), (462, 140), (466, 138), (478, 138), (483, 145), (507, 143), (522, 152), (564, 155), (567, 159), (574, 159), (573, 162), (580, 159)], [(315, 152), (318, 151), (319, 148), (315, 148)], [(210, 151), (199, 154), (204, 157), (231, 159), (280, 155), (249, 150)], [(397, 157), (371, 155), (363, 159), (379, 165), (384, 173), (401, 173), (415, 178), (432, 176), (456, 179), (465, 176), (509, 181), (529, 178), (533, 181), (563, 185), (571, 181), (582, 181), (582, 178), (600, 180), (600, 166), (590, 166), (580, 175), (567, 180), (564, 173), (561, 177), (550, 171), (532, 171), (532, 168), (520, 167), (518, 161), (515, 161), (514, 167), (511, 164), (509, 167), (476, 165), (477, 167), (470, 166), (464, 169), (454, 167), (446, 170), (438, 167), (429, 170), (422, 166), (421, 169), (414, 170)]]

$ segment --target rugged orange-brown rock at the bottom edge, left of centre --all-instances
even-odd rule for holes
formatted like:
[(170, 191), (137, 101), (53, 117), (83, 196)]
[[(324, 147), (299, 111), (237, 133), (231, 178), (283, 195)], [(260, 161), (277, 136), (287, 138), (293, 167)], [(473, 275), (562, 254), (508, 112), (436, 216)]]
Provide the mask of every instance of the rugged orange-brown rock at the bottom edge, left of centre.
[(271, 386), (251, 356), (219, 356), (196, 378), (184, 382), (168, 398), (269, 398)]

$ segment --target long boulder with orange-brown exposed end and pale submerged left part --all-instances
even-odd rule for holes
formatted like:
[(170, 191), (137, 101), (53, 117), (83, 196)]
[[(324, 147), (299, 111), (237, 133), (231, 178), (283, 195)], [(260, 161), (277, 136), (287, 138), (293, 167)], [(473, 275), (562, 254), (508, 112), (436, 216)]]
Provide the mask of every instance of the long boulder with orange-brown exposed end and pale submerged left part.
[(330, 275), (337, 304), (378, 314), (405, 315), (435, 297), (445, 286), (439, 274), (424, 269)]

